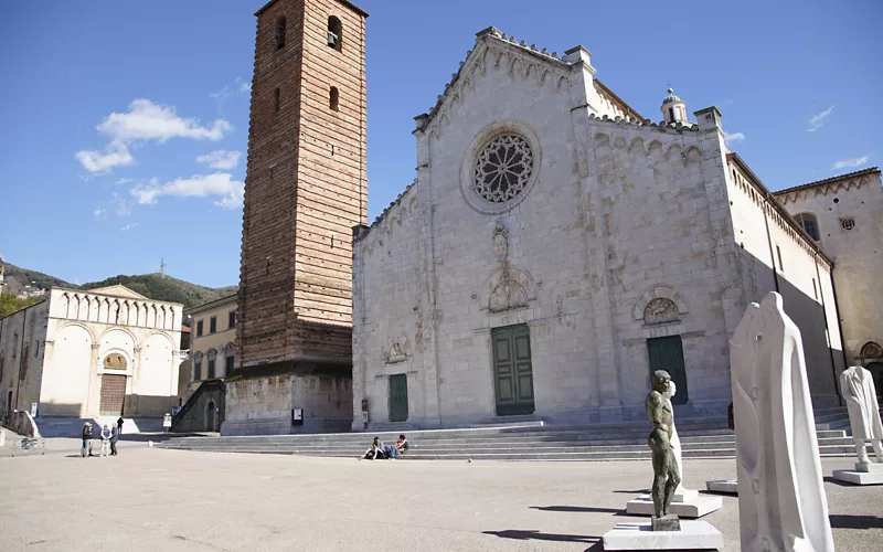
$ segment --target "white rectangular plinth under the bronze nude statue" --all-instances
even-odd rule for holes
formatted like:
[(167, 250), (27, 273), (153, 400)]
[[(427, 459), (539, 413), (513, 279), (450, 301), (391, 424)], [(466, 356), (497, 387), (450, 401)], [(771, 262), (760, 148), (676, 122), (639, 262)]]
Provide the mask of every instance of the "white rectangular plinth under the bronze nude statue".
[(708, 521), (681, 520), (680, 531), (652, 531), (649, 521), (617, 523), (604, 550), (723, 550), (724, 537)]

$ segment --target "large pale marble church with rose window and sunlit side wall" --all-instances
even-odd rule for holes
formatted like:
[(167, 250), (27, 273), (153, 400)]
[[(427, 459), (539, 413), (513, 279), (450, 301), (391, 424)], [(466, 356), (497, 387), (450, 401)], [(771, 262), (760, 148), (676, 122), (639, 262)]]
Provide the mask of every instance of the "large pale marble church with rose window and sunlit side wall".
[(416, 117), (417, 178), (353, 229), (354, 431), (643, 418), (730, 403), (728, 338), (779, 290), (817, 405), (844, 367), (832, 261), (670, 94), (651, 124), (564, 56), (490, 28)]

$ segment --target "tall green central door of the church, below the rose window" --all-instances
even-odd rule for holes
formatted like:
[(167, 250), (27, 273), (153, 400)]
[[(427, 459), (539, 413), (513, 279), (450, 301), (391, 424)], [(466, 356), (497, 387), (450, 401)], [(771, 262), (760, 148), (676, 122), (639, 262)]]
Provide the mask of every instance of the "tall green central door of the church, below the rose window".
[(528, 326), (494, 328), (491, 346), (497, 415), (533, 414), (533, 365)]

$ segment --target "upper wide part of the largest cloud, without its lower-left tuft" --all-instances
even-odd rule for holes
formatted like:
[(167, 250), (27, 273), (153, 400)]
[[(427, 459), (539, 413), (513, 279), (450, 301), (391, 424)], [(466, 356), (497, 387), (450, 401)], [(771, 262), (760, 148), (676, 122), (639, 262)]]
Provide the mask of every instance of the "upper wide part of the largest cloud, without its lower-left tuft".
[(145, 98), (132, 100), (127, 113), (111, 113), (98, 125), (98, 131), (114, 140), (156, 140), (160, 144), (171, 138), (217, 141), (232, 128), (224, 119), (215, 119), (210, 127), (203, 127), (199, 119), (183, 119), (173, 107)]

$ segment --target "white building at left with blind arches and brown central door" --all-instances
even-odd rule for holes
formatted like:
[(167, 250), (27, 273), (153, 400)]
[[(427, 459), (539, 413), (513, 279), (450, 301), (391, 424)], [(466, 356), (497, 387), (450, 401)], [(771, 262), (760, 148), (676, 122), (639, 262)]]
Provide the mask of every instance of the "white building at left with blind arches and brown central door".
[(124, 286), (52, 288), (0, 319), (0, 408), (40, 416), (162, 416), (179, 404), (183, 306)]

